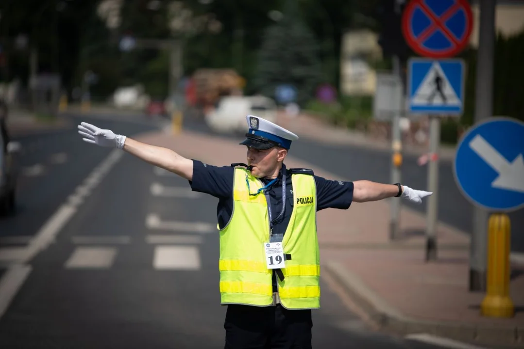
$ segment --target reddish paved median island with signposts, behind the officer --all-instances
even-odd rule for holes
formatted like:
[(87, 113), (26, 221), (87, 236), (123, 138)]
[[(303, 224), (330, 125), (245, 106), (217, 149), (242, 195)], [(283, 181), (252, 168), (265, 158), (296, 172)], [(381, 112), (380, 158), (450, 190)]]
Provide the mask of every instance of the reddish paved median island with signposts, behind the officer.
[[(236, 142), (197, 133), (144, 134), (139, 140), (173, 149), (190, 159), (213, 165), (244, 161)], [(289, 167), (312, 168), (315, 174), (347, 179), (287, 157)], [(424, 262), (425, 218), (402, 208), (401, 241), (388, 240), (388, 200), (353, 203), (348, 210), (318, 215), (323, 273), (339, 282), (380, 330), (406, 335), (430, 333), (460, 341), (524, 347), (524, 265), (513, 266), (512, 319), (480, 316), (483, 294), (467, 290), (469, 239), (463, 232), (438, 224), (438, 261)]]

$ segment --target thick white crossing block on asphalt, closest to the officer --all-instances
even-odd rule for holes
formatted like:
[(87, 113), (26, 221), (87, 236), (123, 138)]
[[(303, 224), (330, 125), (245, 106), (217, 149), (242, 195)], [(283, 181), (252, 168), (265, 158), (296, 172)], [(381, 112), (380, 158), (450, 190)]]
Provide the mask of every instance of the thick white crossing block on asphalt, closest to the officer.
[(198, 270), (200, 254), (194, 246), (157, 246), (153, 264), (155, 269)]

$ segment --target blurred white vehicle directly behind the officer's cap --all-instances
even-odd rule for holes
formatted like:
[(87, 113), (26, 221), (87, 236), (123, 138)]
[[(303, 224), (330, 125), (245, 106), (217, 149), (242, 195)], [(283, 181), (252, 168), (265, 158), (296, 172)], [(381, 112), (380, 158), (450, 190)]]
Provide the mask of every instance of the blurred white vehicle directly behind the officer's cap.
[(276, 122), (277, 105), (264, 96), (226, 96), (205, 115), (208, 126), (221, 133), (245, 133), (246, 115), (255, 115)]

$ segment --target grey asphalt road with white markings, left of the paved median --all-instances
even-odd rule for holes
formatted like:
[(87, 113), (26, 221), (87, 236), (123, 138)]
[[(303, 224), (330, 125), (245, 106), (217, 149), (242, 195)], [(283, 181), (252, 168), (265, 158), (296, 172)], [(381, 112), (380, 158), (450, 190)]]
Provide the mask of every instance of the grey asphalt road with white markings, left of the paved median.
[[(82, 120), (127, 136), (158, 126)], [(27, 279), (0, 318), (0, 347), (223, 347), (216, 200), (183, 197), (190, 195), (187, 181), (123, 152), (107, 165), (118, 151), (83, 143), (74, 128), (20, 141), (27, 151), (18, 210), (0, 218), (0, 247), (41, 234), (64, 202), (74, 210), (60, 228), (56, 220), (47, 225), (56, 235), (29, 261)], [(314, 347), (436, 348), (369, 331), (329, 284), (322, 289)]]

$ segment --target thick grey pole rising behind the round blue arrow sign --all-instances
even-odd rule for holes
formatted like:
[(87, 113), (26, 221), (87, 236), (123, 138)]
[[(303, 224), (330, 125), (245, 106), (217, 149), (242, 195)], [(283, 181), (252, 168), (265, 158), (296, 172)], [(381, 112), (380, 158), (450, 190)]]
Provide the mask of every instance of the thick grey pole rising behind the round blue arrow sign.
[[(479, 0), (480, 24), (475, 86), (475, 123), (493, 115), (495, 0)], [(470, 245), (470, 291), (486, 290), (488, 211), (474, 207)]]

